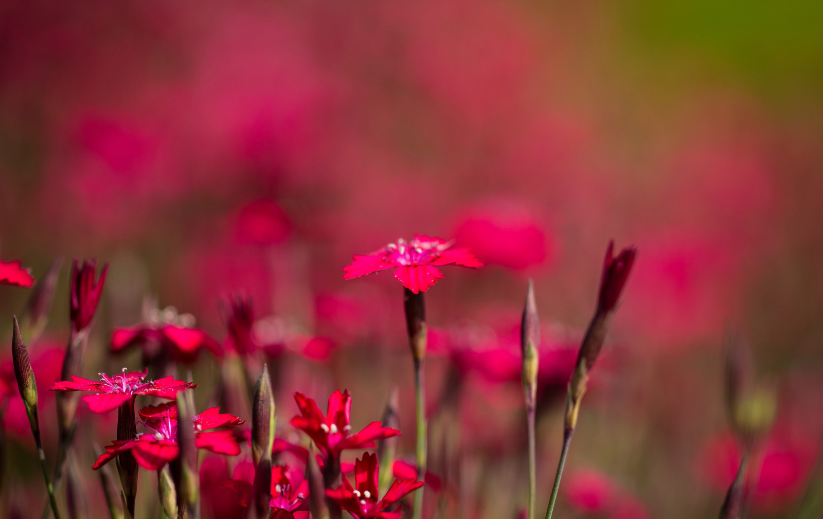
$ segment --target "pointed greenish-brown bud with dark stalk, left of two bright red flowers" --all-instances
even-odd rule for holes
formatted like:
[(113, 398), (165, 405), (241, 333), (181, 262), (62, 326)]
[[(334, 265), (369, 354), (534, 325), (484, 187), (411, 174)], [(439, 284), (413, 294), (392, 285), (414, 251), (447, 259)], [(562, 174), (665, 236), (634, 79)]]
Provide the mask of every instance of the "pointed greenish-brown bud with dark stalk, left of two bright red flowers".
[(272, 500), (272, 446), (274, 445), (275, 408), (268, 368), (263, 364), (254, 387), (252, 411), (252, 456), (254, 461), (254, 503), (258, 517), (265, 517)]

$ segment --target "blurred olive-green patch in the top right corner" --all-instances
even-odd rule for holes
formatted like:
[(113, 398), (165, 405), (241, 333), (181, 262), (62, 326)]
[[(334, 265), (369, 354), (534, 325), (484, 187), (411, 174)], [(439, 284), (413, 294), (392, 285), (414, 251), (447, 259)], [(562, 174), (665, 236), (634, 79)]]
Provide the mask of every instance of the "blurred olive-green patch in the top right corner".
[(823, 85), (821, 0), (631, 0), (614, 7), (632, 51), (663, 60), (704, 53), (780, 90)]

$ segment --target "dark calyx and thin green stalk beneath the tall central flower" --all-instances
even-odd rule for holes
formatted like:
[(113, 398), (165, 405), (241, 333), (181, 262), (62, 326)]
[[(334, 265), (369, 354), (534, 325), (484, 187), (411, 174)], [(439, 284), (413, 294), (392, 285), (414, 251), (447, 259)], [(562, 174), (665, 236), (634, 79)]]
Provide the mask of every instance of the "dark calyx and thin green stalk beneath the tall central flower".
[[(406, 327), (409, 336), (409, 346), (412, 348), (412, 361), (414, 362), (414, 387), (415, 387), (415, 417), (416, 417), (416, 463), (417, 477), (422, 479), (425, 475), (427, 426), (425, 421), (425, 384), (424, 384), (424, 361), (426, 347), (426, 327), (425, 327), (425, 300), (422, 292), (413, 292), (404, 289), (403, 303), (406, 309)], [(423, 517), (423, 489), (414, 497), (414, 519)]]

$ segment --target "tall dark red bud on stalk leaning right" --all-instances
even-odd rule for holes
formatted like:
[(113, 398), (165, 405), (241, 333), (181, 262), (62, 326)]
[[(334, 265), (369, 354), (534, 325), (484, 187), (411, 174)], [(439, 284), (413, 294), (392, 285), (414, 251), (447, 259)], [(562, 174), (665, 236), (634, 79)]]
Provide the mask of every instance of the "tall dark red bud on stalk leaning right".
[(546, 507), (546, 519), (551, 519), (551, 512), (555, 507), (565, 458), (569, 453), (569, 445), (574, 434), (574, 428), (577, 425), (580, 402), (583, 401), (583, 396), (588, 387), (588, 375), (591, 373), (594, 361), (597, 360), (597, 355), (600, 354), (603, 347), (611, 317), (615, 313), (617, 302), (620, 300), (625, 283), (629, 279), (636, 255), (637, 249), (629, 247), (624, 248), (621, 253), (614, 256), (614, 241), (609, 242), (606, 249), (606, 258), (603, 261), (600, 278), (600, 291), (597, 297), (597, 309), (594, 312), (594, 317), (592, 317), (592, 322), (588, 325), (583, 343), (580, 345), (577, 362), (569, 381), (563, 421), (563, 447), (560, 449), (560, 460), (557, 463), (555, 482), (551, 488), (549, 505)]

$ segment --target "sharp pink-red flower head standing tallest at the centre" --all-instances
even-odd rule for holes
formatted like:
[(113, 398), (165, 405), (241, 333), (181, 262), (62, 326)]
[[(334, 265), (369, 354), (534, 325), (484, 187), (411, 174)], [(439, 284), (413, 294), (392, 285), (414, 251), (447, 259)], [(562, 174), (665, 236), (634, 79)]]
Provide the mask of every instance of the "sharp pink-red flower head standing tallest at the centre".
[(389, 243), (374, 253), (356, 255), (354, 262), (343, 267), (343, 279), (351, 280), (397, 267), (394, 277), (417, 294), (429, 290), (430, 286), (443, 277), (438, 266), (483, 266), (467, 248), (451, 248), (452, 244), (453, 242), (422, 234), (415, 234), (410, 242), (401, 238), (397, 243)]

